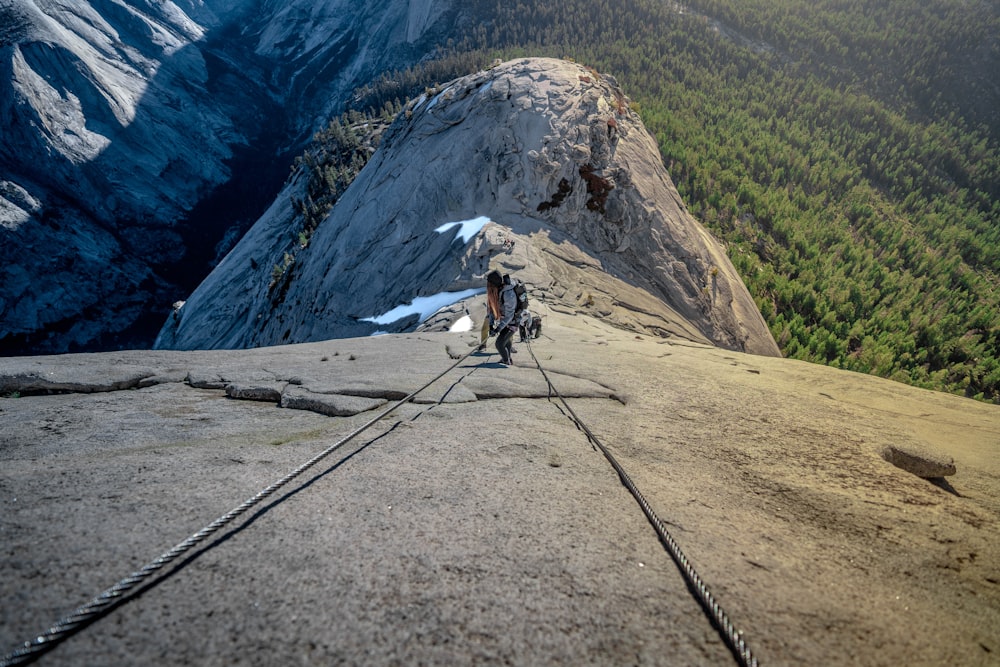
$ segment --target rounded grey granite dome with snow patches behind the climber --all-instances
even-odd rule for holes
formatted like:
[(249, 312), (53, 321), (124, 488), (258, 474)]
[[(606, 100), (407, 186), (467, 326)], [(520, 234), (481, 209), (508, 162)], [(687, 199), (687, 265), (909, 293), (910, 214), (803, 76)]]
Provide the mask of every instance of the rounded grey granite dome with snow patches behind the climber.
[(293, 240), (303, 187), (286, 186), (157, 347), (410, 330), (428, 319), (418, 300), (449, 295), (450, 309), (424, 327), (451, 327), (499, 267), (527, 282), (541, 309), (778, 354), (625, 93), (575, 63), (498, 64), (413, 101), (308, 247)]

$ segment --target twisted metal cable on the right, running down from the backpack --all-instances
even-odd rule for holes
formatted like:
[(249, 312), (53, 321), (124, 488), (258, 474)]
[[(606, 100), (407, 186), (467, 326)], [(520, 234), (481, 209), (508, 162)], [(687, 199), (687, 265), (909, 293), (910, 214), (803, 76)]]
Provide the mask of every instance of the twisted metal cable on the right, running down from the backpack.
[(625, 469), (618, 463), (618, 460), (615, 459), (614, 455), (608, 451), (608, 449), (597, 438), (597, 436), (594, 435), (590, 428), (583, 423), (583, 420), (581, 420), (577, 414), (573, 412), (573, 408), (569, 406), (569, 403), (566, 402), (563, 395), (560, 394), (559, 390), (556, 389), (554, 384), (552, 384), (552, 380), (549, 379), (545, 369), (542, 368), (542, 364), (539, 363), (538, 357), (535, 356), (535, 351), (531, 349), (531, 344), (527, 342), (526, 344), (528, 345), (528, 351), (531, 353), (531, 358), (535, 361), (535, 365), (538, 366), (538, 370), (541, 371), (542, 377), (545, 378), (545, 382), (549, 385), (550, 395), (554, 393), (559, 397), (559, 400), (562, 402), (563, 406), (565, 406), (566, 410), (569, 411), (569, 414), (572, 416), (577, 427), (587, 435), (587, 439), (590, 440), (591, 444), (601, 450), (601, 453), (604, 454), (604, 458), (608, 460), (611, 467), (615, 469), (616, 473), (618, 473), (618, 477), (622, 484), (624, 484), (625, 488), (629, 490), (632, 497), (635, 498), (635, 501), (639, 503), (639, 507), (642, 508), (643, 514), (646, 515), (646, 518), (649, 520), (650, 524), (652, 524), (653, 529), (660, 538), (660, 541), (667, 548), (667, 552), (670, 554), (670, 557), (674, 559), (674, 562), (677, 563), (677, 567), (680, 568), (681, 573), (687, 581), (688, 588), (695, 594), (695, 597), (701, 604), (702, 609), (704, 609), (705, 613), (708, 615), (709, 620), (712, 621), (712, 625), (715, 626), (723, 641), (726, 643), (726, 646), (728, 646), (729, 650), (732, 651), (733, 657), (735, 657), (737, 662), (739, 662), (739, 664), (743, 667), (758, 667), (757, 658), (753, 655), (753, 652), (750, 650), (750, 646), (743, 638), (743, 633), (733, 625), (732, 621), (729, 620), (729, 615), (726, 614), (725, 610), (723, 610), (722, 607), (719, 606), (719, 603), (716, 602), (715, 596), (713, 596), (711, 591), (708, 590), (708, 586), (705, 584), (701, 576), (699, 576), (695, 571), (694, 566), (684, 555), (684, 552), (681, 551), (680, 545), (678, 545), (676, 540), (674, 540), (666, 526), (664, 526), (660, 518), (656, 516), (656, 513), (653, 511), (653, 508), (650, 506), (645, 496), (642, 495), (638, 487), (636, 487), (636, 485), (632, 482), (632, 478), (628, 476), (628, 473), (625, 472)]

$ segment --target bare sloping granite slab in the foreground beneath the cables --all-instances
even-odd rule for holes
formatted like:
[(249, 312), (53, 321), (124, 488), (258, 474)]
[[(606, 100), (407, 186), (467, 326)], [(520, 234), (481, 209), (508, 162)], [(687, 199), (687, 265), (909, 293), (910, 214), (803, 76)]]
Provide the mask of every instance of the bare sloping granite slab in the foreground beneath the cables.
[[(514, 367), (486, 350), (435, 380), (477, 344), (0, 359), (6, 387), (30, 370), (102, 389), (0, 395), (0, 656), (337, 446), (38, 664), (732, 664), (527, 347)], [(997, 406), (584, 315), (551, 314), (531, 350), (761, 664), (1000, 654)], [(95, 383), (119, 366), (179, 379)], [(286, 396), (434, 382), (342, 443), (389, 404), (327, 417), (196, 377), (287, 381)], [(434, 400), (452, 388), (491, 397)], [(957, 472), (887, 464), (900, 441)]]

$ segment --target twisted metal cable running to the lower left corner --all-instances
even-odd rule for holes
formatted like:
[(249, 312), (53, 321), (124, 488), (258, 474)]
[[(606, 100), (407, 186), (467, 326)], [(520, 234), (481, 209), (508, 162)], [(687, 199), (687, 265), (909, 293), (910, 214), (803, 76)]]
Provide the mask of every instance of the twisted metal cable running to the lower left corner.
[(79, 630), (86, 627), (93, 621), (96, 621), (98, 618), (108, 613), (115, 606), (124, 603), (129, 591), (131, 591), (136, 586), (149, 579), (153, 574), (155, 574), (159, 570), (173, 563), (175, 560), (183, 556), (185, 553), (190, 551), (192, 548), (194, 548), (201, 542), (205, 541), (207, 538), (217, 533), (226, 525), (232, 523), (235, 519), (237, 519), (242, 514), (245, 514), (254, 506), (260, 504), (261, 501), (267, 499), (269, 496), (273, 495), (278, 489), (285, 486), (293, 479), (300, 476), (302, 473), (306, 472), (309, 468), (313, 467), (321, 460), (332, 454), (334, 451), (336, 451), (340, 447), (344, 446), (345, 444), (347, 444), (348, 442), (359, 436), (361, 433), (370, 428), (380, 419), (383, 419), (386, 416), (392, 414), (401, 405), (409, 402), (410, 400), (413, 399), (414, 396), (422, 392), (424, 389), (427, 389), (427, 387), (431, 386), (439, 379), (441, 379), (442, 377), (450, 373), (452, 370), (454, 370), (460, 363), (462, 363), (470, 356), (472, 356), (472, 354), (474, 354), (477, 350), (478, 348), (473, 348), (470, 352), (462, 356), (454, 364), (449, 366), (446, 370), (439, 373), (437, 376), (435, 376), (432, 380), (427, 382), (419, 389), (413, 391), (409, 396), (400, 399), (392, 406), (386, 408), (378, 415), (376, 415), (369, 421), (365, 422), (363, 425), (359, 426), (351, 433), (344, 436), (339, 441), (337, 441), (327, 449), (323, 450), (322, 452), (314, 456), (306, 463), (303, 463), (301, 466), (299, 466), (292, 472), (288, 473), (287, 475), (282, 477), (280, 480), (278, 480), (271, 486), (268, 486), (267, 488), (257, 493), (257, 495), (244, 501), (243, 504), (240, 505), (239, 507), (236, 507), (227, 512), (226, 514), (220, 516), (218, 519), (208, 524), (198, 532), (194, 533), (183, 542), (177, 544), (169, 551), (166, 551), (163, 554), (161, 554), (155, 560), (144, 565), (141, 569), (136, 570), (129, 576), (125, 577), (117, 584), (115, 584), (111, 588), (107, 589), (106, 591), (104, 591), (103, 593), (92, 599), (90, 602), (86, 603), (81, 607), (78, 607), (71, 614), (59, 619), (42, 634), (38, 635), (37, 637), (29, 641), (24, 642), (24, 644), (20, 648), (12, 651), (10, 654), (0, 659), (0, 667), (13, 667), (14, 665), (25, 665), (37, 660), (44, 653), (55, 648), (55, 646), (64, 639), (77, 633)]

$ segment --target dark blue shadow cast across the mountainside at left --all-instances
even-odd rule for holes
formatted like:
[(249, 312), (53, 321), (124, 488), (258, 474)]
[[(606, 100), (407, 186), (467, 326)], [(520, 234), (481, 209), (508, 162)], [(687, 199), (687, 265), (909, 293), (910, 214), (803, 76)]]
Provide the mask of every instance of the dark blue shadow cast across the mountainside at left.
[[(94, 7), (107, 10), (110, 30), (142, 42), (129, 32), (131, 14), (99, 2)], [(4, 151), (0, 171), (29, 187), (43, 206), (4, 235), (0, 257), (20, 265), (28, 280), (0, 286), (0, 305), (7, 306), (0, 313), (12, 318), (0, 326), (0, 354), (151, 347), (171, 303), (185, 298), (228, 249), (227, 235), (238, 238), (273, 201), (288, 174), (289, 151), (302, 140), (289, 139), (286, 114), (262, 83), (268, 64), (239, 43), (210, 35), (163, 58), (123, 127), (69, 42), (29, 35), (17, 44), (27, 66), (57, 72), (50, 85), (80, 100), (86, 129), (110, 143), (74, 164), (48, 151), (33, 129), (41, 125), (31, 105), (8, 99), (15, 111), (7, 134), (23, 145)], [(154, 53), (142, 46), (145, 57), (162, 58), (162, 48)], [(5, 61), (13, 48), (3, 49)], [(141, 61), (122, 57), (140, 67)], [(14, 94), (13, 72), (3, 71), (0, 92)], [(205, 154), (189, 154), (187, 144), (175, 140), (204, 146)], [(230, 177), (218, 182), (219, 174)], [(58, 285), (74, 285), (73, 296), (43, 308), (42, 295)], [(38, 328), (24, 331), (30, 316), (16, 308), (38, 308)]]

